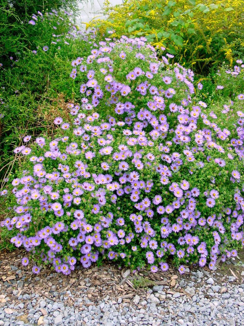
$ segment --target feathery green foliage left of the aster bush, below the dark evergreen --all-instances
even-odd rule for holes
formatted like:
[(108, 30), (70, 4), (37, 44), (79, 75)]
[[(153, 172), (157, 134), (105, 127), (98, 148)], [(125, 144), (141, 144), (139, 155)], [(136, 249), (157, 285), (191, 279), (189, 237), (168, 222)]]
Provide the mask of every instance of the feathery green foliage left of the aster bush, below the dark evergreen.
[[(60, 95), (63, 94), (64, 100), (74, 99), (75, 89), (70, 86), (70, 64), (74, 57), (90, 51), (86, 36), (89, 33), (77, 30), (67, 14), (51, 12), (43, 17), (38, 15), (36, 24), (30, 25), (36, 36), (33, 47), (27, 49), (23, 56), (19, 55), (16, 61), (8, 59), (7, 67), (0, 67), (0, 98), (3, 102), (0, 179), (6, 177), (8, 167), (8, 172), (11, 170), (13, 157), (10, 153), (21, 143), (21, 137), (37, 135), (44, 128), (48, 132), (50, 112), (59, 110)], [(46, 52), (43, 50), (45, 46), (49, 47)]]

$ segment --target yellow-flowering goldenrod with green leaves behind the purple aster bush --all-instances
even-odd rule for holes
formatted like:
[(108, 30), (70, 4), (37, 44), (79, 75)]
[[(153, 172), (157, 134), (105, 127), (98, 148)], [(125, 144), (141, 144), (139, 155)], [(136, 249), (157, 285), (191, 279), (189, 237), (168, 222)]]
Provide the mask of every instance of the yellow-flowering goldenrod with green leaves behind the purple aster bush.
[(87, 27), (101, 35), (144, 36), (161, 50), (166, 47), (175, 60), (204, 73), (223, 60), (232, 65), (244, 52), (243, 0), (125, 0), (112, 7), (104, 2), (106, 20), (96, 17)]

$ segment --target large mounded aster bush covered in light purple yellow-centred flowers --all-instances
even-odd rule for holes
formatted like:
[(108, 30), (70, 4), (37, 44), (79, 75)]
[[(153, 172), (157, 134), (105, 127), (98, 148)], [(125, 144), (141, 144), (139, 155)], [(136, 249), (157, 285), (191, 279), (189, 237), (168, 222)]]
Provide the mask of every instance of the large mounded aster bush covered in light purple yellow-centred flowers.
[[(244, 95), (215, 109), (171, 58), (159, 60), (144, 37), (94, 42), (72, 62), (69, 117), (55, 117), (53, 137), (26, 136), (14, 150), (22, 168), (1, 192), (14, 212), (2, 227), (34, 273), (102, 259), (152, 272), (171, 259), (183, 273), (237, 255)], [(220, 75), (243, 85), (243, 67)]]

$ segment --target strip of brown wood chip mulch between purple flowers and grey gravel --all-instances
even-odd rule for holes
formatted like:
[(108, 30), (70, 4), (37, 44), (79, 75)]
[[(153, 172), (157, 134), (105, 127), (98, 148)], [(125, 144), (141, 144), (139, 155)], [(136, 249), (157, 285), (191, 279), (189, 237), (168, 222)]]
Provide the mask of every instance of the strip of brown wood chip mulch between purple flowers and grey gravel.
[[(130, 303), (135, 295), (147, 299), (150, 295), (147, 289), (154, 285), (164, 286), (164, 291), (168, 294), (176, 292), (180, 295), (186, 295), (189, 299), (191, 296), (185, 292), (183, 286), (180, 286), (182, 280), (191, 282), (189, 277), (192, 271), (180, 275), (176, 269), (169, 268), (167, 272), (157, 272), (155, 274), (146, 271), (132, 274), (128, 269), (119, 270), (113, 263), (107, 263), (104, 266), (94, 266), (89, 269), (78, 267), (70, 275), (65, 276), (51, 271), (50, 268), (42, 269), (38, 275), (34, 275), (31, 267), (23, 267), (21, 259), (25, 252), (15, 250), (13, 252), (0, 252), (0, 304), (8, 300), (16, 300), (21, 294), (38, 293), (43, 298), (59, 302), (59, 297), (64, 291), (70, 291), (71, 295), (67, 296), (68, 305), (73, 305), (76, 298), (86, 297), (89, 301), (97, 303), (100, 300), (111, 300), (114, 304), (119, 298), (124, 303)], [(193, 269), (194, 270), (194, 269)], [(201, 269), (204, 273), (202, 282), (212, 276), (208, 269)], [(220, 282), (226, 280), (226, 269), (221, 274), (222, 268), (219, 267), (215, 272), (214, 279), (219, 278)], [(241, 284), (243, 276), (240, 275), (244, 270), (243, 266), (228, 266), (228, 275), (236, 277), (235, 282)], [(189, 280), (190, 279), (190, 280)], [(198, 283), (201, 286), (201, 283)], [(218, 282), (219, 283), (219, 282)], [(197, 283), (194, 286), (198, 286)], [(13, 290), (18, 290), (13, 295)], [(58, 293), (58, 295), (57, 295)], [(92, 304), (92, 303), (90, 303)]]

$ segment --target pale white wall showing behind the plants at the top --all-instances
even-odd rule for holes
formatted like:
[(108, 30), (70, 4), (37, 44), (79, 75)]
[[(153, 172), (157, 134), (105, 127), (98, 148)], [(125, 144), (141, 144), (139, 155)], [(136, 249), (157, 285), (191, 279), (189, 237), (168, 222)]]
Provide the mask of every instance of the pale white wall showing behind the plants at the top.
[[(112, 6), (119, 5), (123, 3), (123, 0), (110, 0)], [(87, 4), (79, 4), (80, 8), (80, 18), (78, 23), (89, 22), (95, 16), (100, 16), (99, 18), (105, 18), (102, 15), (103, 0), (88, 0)]]

